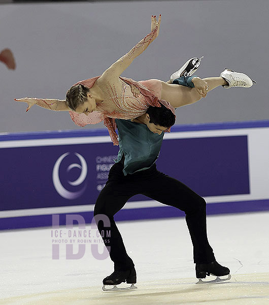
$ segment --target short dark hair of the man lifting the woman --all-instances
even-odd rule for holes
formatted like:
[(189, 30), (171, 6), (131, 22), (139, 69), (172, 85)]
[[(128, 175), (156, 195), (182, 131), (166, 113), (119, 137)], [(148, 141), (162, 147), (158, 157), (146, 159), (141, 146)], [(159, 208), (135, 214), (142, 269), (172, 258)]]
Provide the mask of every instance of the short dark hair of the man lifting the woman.
[(149, 114), (149, 123), (170, 128), (175, 124), (175, 114), (162, 104), (161, 107), (149, 106), (147, 113)]

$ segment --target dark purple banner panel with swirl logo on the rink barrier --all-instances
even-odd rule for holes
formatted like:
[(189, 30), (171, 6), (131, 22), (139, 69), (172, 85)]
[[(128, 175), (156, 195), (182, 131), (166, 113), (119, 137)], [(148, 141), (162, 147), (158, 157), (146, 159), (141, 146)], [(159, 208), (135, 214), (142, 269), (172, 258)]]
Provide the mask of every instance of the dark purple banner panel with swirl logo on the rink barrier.
[[(1, 149), (1, 210), (94, 204), (117, 150), (111, 143)], [(71, 185), (82, 162), (85, 179)], [(249, 194), (247, 136), (165, 140), (156, 164), (201, 196)], [(152, 199), (130, 199), (140, 200)]]

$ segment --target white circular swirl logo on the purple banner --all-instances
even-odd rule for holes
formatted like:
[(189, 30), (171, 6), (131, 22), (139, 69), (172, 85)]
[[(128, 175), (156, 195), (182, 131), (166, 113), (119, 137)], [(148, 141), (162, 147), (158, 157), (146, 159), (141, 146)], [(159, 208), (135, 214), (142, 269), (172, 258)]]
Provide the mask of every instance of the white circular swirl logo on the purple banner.
[[(72, 199), (76, 199), (76, 198), (80, 197), (84, 193), (84, 191), (86, 189), (86, 185), (80, 191), (72, 192), (72, 191), (66, 190), (63, 187), (63, 185), (61, 184), (61, 181), (59, 178), (60, 165), (61, 165), (61, 162), (63, 161), (63, 159), (66, 156), (68, 156), (69, 154), (70, 153), (65, 153), (65, 154), (61, 155), (55, 162), (55, 165), (53, 167), (53, 172), (52, 172), (52, 181), (53, 181), (55, 190), (58, 192), (58, 194), (61, 197), (72, 200)], [(68, 166), (66, 172), (69, 172), (73, 168), (79, 168), (81, 170), (81, 173), (80, 173), (80, 176), (75, 181), (67, 181), (68, 184), (72, 187), (77, 187), (77, 186), (81, 185), (87, 176), (87, 163), (86, 163), (85, 159), (78, 153), (75, 153), (75, 155), (80, 160), (81, 165), (78, 163), (73, 163)]]

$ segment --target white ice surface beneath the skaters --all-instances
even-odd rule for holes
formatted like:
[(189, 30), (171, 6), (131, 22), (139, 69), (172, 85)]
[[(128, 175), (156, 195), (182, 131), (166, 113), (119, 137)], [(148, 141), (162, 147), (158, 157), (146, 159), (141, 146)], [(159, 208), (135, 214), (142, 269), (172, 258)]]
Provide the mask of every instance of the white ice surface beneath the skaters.
[[(90, 244), (76, 260), (66, 260), (61, 245), (60, 258), (53, 260), (51, 228), (4, 231), (0, 304), (269, 304), (269, 212), (208, 217), (216, 259), (232, 278), (204, 285), (195, 285), (183, 218), (117, 225), (136, 264), (137, 290), (103, 292), (113, 265), (109, 258), (95, 259)], [(170, 233), (173, 228), (177, 234)]]

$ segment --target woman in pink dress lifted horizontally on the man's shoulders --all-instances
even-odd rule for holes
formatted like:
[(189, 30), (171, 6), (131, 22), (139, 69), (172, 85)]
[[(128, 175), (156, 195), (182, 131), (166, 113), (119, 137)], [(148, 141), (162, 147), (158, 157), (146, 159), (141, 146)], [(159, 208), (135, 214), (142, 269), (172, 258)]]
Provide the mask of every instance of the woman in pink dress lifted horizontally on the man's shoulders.
[[(114, 145), (118, 145), (115, 118), (134, 119), (146, 113), (149, 106), (173, 109), (192, 104), (206, 97), (217, 86), (252, 86), (252, 80), (243, 73), (225, 70), (220, 77), (200, 79), (188, 77), (186, 82), (192, 85), (179, 86), (157, 79), (134, 81), (121, 77), (122, 72), (139, 56), (158, 36), (161, 15), (158, 21), (151, 16), (151, 32), (109, 67), (101, 76), (79, 81), (66, 93), (66, 100), (51, 99), (15, 99), (28, 103), (26, 111), (32, 105), (56, 110), (69, 111), (76, 125), (96, 124), (104, 120)], [(177, 74), (174, 73), (173, 75)], [(175, 81), (172, 78), (172, 81)], [(170, 81), (171, 82), (171, 81)], [(131, 88), (132, 87), (132, 88)], [(133, 94), (134, 87), (140, 94)], [(167, 130), (169, 131), (169, 130)]]

